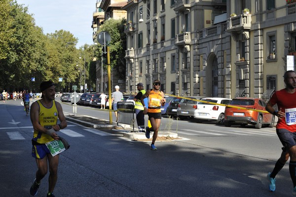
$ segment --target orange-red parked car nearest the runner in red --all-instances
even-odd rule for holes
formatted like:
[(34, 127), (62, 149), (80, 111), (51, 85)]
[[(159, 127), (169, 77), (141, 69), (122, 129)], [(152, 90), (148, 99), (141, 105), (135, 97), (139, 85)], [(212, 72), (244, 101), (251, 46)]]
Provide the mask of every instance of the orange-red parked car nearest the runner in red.
[[(232, 99), (229, 105), (265, 111), (266, 103), (260, 98), (235, 98)], [(262, 124), (273, 127), (274, 121), (274, 115), (267, 112), (263, 113), (231, 107), (226, 107), (225, 109), (225, 126), (231, 126), (232, 124), (240, 124), (241, 126), (253, 124), (259, 129), (262, 127)]]

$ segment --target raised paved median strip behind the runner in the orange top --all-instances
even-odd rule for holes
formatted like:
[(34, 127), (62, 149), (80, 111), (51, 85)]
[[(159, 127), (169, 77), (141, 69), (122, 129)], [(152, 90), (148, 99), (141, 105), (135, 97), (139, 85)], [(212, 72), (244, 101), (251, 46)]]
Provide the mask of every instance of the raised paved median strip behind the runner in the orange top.
[[(123, 137), (130, 139), (130, 140), (148, 140), (145, 136), (145, 133), (139, 133), (138, 128), (135, 128), (134, 132), (131, 125), (127, 124), (120, 124), (116, 122), (112, 122), (110, 124), (109, 120), (106, 119), (99, 119), (94, 118), (90, 116), (74, 116), (74, 115), (68, 115), (65, 116), (68, 121), (72, 121), (75, 123), (78, 123), (80, 125), (89, 127), (89, 128), (95, 128), (102, 131), (116, 131), (123, 134)], [(159, 131), (157, 141), (161, 141), (161, 139), (175, 139), (178, 138), (178, 134), (171, 132), (171, 131)], [(150, 134), (150, 139), (152, 140), (152, 135)], [(167, 141), (167, 140), (166, 140)]]

